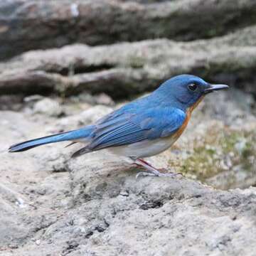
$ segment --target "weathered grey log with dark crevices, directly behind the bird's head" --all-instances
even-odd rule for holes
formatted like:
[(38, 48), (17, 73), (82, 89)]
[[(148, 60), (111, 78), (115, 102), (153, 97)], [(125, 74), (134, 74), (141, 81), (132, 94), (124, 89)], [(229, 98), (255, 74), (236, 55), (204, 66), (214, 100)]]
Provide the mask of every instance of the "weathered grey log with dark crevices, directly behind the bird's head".
[(166, 39), (110, 46), (33, 50), (0, 63), (0, 94), (107, 92), (112, 97), (151, 90), (179, 73), (256, 93), (256, 26), (195, 42)]

